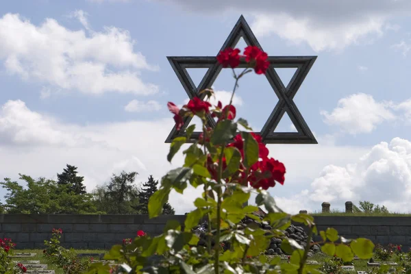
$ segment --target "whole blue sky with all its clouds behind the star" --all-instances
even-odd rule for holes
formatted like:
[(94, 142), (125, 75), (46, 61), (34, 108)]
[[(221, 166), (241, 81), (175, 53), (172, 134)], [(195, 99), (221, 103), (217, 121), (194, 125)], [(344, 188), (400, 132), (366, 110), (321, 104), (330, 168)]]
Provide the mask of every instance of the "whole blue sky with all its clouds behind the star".
[[(173, 125), (166, 102), (187, 98), (166, 56), (216, 55), (243, 14), (269, 55), (318, 55), (295, 103), (319, 145), (269, 146), (288, 171), (286, 184), (273, 189), (277, 201), (294, 212), (319, 210), (322, 201), (342, 208), (348, 200), (410, 211), (411, 4), (204, 3), (3, 3), (0, 177), (55, 177), (69, 163), (79, 167), (88, 190), (123, 169), (138, 171), (138, 182), (160, 178), (173, 167), (165, 160)], [(196, 82), (203, 71), (190, 73)], [(284, 82), (291, 77), (278, 73)], [(233, 84), (223, 70), (214, 83), (218, 97)], [(240, 82), (238, 114), (254, 129), (276, 102), (263, 76)], [(290, 121), (279, 127), (290, 131)], [(174, 166), (181, 161), (179, 155)], [(179, 213), (191, 202), (171, 197)]]

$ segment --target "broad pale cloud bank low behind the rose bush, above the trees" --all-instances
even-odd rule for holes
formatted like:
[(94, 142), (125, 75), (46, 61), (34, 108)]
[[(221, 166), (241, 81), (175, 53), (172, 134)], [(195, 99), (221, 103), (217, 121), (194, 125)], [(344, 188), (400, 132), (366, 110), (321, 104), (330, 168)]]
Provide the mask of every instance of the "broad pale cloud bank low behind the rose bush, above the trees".
[[(73, 164), (85, 177), (89, 191), (123, 169), (137, 171), (136, 182), (145, 182), (151, 174), (160, 179), (183, 163), (182, 153), (177, 153), (172, 164), (166, 161), (169, 144), (164, 140), (172, 127), (171, 114), (156, 121), (68, 125), (29, 110), (23, 101), (8, 101), (0, 113), (0, 155), (8, 155), (0, 158), (0, 166), (8, 168), (0, 170), (0, 177), (18, 179), (18, 173), (24, 173), (55, 178), (66, 164)], [(286, 184), (275, 188), (277, 196), (278, 190), (295, 191), (297, 182), (312, 180), (321, 166), (344, 165), (364, 154), (361, 148), (329, 145), (269, 148), (271, 155), (287, 168)], [(184, 214), (192, 209), (192, 201), (200, 193), (201, 189), (189, 187), (184, 196), (172, 192), (170, 201), (177, 213)], [(0, 189), (0, 195), (4, 195), (4, 190)]]

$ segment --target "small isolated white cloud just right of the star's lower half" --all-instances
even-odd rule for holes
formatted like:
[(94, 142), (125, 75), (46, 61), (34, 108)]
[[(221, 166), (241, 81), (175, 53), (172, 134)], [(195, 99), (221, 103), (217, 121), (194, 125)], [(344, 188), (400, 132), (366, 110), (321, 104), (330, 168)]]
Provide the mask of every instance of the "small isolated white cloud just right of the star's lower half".
[(349, 134), (369, 133), (384, 121), (393, 121), (395, 115), (389, 110), (390, 103), (376, 102), (371, 95), (358, 93), (338, 100), (332, 113), (322, 110), (328, 125), (338, 125)]

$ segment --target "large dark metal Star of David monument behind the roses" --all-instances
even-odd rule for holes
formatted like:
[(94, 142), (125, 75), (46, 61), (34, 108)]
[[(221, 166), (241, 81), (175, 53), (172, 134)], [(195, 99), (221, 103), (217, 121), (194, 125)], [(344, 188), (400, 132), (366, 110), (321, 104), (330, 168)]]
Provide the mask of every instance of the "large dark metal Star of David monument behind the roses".
[[(251, 28), (249, 27), (245, 18), (241, 15), (238, 19), (236, 25), (232, 29), (225, 40), (221, 51), (227, 49), (228, 47), (236, 47), (238, 40), (243, 38), (247, 45), (262, 47), (258, 42), (256, 36), (254, 36)], [(218, 52), (219, 53), (219, 52)], [(217, 53), (217, 54), (218, 54)], [(219, 76), (223, 66), (219, 64), (216, 56), (168, 56), (169, 60), (175, 74), (177, 75), (179, 81), (182, 83), (184, 90), (190, 99), (194, 97), (199, 97), (203, 100), (206, 97), (205, 93), (201, 93), (201, 90), (206, 88), (211, 88), (212, 84)], [(294, 99), (295, 94), (299, 90), (299, 87), (306, 78), (308, 72), (310, 71), (312, 65), (316, 60), (316, 56), (269, 56), (268, 61), (270, 63), (269, 69), (266, 71), (266, 79), (269, 81), (270, 86), (273, 88), (273, 92), (277, 95), (279, 101), (276, 105), (273, 105), (273, 111), (270, 116), (267, 117), (266, 123), (261, 129), (261, 132), (254, 132), (262, 136), (262, 140), (266, 144), (317, 144), (318, 142), (314, 138), (310, 128), (308, 127), (306, 121), (304, 121), (303, 116), (299, 112), (297, 105), (295, 105)], [(239, 68), (247, 67), (244, 60), (238, 66)], [(297, 69), (292, 76), (289, 84), (284, 86), (282, 80), (279, 78), (275, 69), (282, 68), (295, 68)], [(192, 82), (187, 69), (208, 69), (206, 75), (203, 76), (201, 82), (198, 86)], [(264, 80), (263, 80), (264, 81)], [(275, 132), (279, 121), (287, 113), (290, 120), (294, 124), (297, 132)], [(174, 138), (178, 136), (185, 135), (185, 129), (190, 123), (192, 117), (188, 116), (184, 119), (184, 125), (180, 130), (177, 131), (176, 127), (171, 130), (171, 133), (166, 138), (166, 142), (172, 142)], [(214, 128), (216, 126), (216, 121), (208, 114), (208, 126)], [(188, 142), (195, 142), (198, 140), (201, 132), (194, 132), (190, 137)]]

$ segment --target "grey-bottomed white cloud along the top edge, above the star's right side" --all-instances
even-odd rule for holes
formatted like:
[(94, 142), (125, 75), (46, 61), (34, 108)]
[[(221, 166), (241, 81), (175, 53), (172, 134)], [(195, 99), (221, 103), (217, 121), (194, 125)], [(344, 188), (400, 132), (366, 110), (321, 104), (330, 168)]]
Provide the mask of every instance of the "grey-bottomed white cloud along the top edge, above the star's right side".
[(387, 0), (262, 0), (258, 5), (245, 0), (158, 1), (205, 14), (250, 14), (257, 36), (275, 34), (292, 43), (306, 43), (314, 51), (340, 51), (349, 45), (373, 42), (384, 32), (398, 30), (390, 19), (411, 11), (410, 1)]

